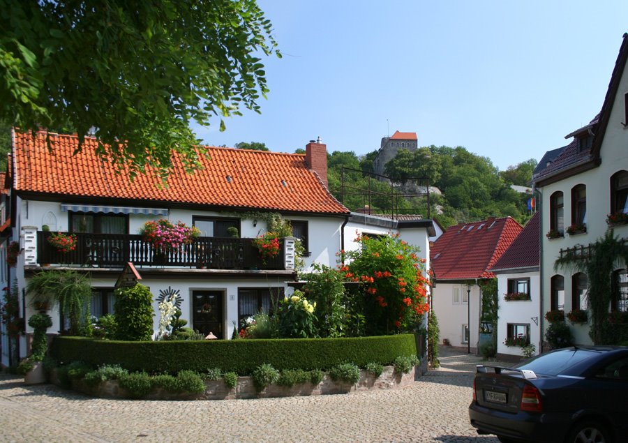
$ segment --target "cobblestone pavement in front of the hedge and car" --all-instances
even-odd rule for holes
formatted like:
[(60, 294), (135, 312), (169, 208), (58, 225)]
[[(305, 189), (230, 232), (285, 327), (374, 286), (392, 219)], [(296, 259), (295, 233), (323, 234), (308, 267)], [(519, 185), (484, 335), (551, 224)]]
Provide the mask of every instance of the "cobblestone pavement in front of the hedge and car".
[(105, 400), (0, 375), (0, 441), (498, 443), (469, 424), (481, 359), (461, 352), (403, 389), (256, 400)]

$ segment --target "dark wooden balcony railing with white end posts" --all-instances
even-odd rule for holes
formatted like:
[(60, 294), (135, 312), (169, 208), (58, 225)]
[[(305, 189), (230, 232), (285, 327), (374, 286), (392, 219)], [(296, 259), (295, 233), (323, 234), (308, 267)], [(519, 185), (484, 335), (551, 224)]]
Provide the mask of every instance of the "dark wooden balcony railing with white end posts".
[[(36, 235), (33, 235), (36, 234)], [(294, 269), (294, 239), (280, 240), (276, 257), (262, 262), (253, 239), (197, 237), (193, 243), (179, 250), (160, 253), (139, 234), (75, 233), (77, 246), (68, 253), (60, 253), (47, 241), (51, 232), (26, 232), (25, 247), (31, 257), (26, 264), (55, 264), (94, 268), (123, 268), (128, 262), (135, 266), (156, 268), (196, 268), (230, 270), (291, 270)], [(36, 246), (36, 247), (35, 247)]]

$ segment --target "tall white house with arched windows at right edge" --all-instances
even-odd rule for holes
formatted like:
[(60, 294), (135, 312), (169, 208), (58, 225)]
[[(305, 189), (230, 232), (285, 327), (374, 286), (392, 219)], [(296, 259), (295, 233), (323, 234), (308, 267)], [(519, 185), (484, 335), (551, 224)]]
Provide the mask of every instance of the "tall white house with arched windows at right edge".
[[(546, 153), (533, 175), (541, 202), (541, 331), (548, 310), (587, 309), (588, 277), (567, 269), (554, 269), (555, 260), (569, 250), (588, 246), (611, 227), (615, 236), (628, 238), (628, 225), (607, 223), (607, 216), (628, 213), (628, 34), (608, 84), (604, 104), (583, 128), (568, 134), (571, 142)], [(628, 308), (625, 263), (613, 271), (611, 310)], [(590, 321), (590, 320), (589, 320)], [(570, 324), (576, 343), (590, 344), (590, 324)]]

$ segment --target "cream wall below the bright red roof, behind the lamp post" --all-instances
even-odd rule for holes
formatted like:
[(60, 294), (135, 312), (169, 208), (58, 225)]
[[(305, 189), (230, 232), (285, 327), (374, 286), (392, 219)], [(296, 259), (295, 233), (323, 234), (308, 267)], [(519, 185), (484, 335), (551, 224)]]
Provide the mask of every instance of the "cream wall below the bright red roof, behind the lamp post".
[[(474, 284), (470, 285), (469, 288), (471, 290), (470, 306), (463, 302), (463, 296), (467, 295), (467, 285), (438, 281), (437, 285), (432, 287), (432, 309), (438, 318), (440, 343), (447, 338), (452, 346), (467, 347), (467, 343), (463, 340), (463, 325), (468, 324), (468, 314), (470, 313), (471, 347), (477, 347), (481, 291), (479, 286)], [(454, 301), (454, 290), (458, 290), (460, 296), (458, 303)]]

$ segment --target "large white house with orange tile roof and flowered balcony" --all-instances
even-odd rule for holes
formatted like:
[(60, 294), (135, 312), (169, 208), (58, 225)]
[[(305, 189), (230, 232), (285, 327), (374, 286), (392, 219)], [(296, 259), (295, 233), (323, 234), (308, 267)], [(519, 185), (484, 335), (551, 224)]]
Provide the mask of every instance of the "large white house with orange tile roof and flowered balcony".
[[(401, 233), (429, 256), (431, 220), (406, 225), (366, 220), (352, 216), (329, 193), (324, 144), (309, 143), (305, 154), (200, 147), (209, 153), (200, 156), (202, 169), (186, 174), (174, 158), (167, 187), (159, 186), (150, 170), (133, 181), (117, 173), (96, 156), (94, 139), (88, 137), (73, 156), (77, 146), (75, 135), (13, 133), (2, 197), (10, 213), (0, 245), (0, 279), (4, 286), (17, 282), (20, 294), (33, 273), (47, 266), (78, 269), (91, 276), (91, 314), (112, 313), (114, 287), (128, 265), (155, 297), (155, 330), (158, 302), (177, 293), (188, 326), (230, 338), (234, 324), (267, 310), (271, 298), (290, 294), (287, 283), (297, 280), (294, 238), (282, 239), (278, 256), (267, 262), (253, 246), (253, 239), (267, 231), (269, 214), (290, 220), (292, 234), (305, 248), (304, 269), (315, 262), (336, 265), (336, 253), (354, 247), (350, 231), (356, 229)], [(144, 223), (160, 218), (201, 231), (192, 245), (170, 253), (167, 262), (157, 262), (155, 251), (138, 234)], [(44, 225), (50, 232), (43, 231)], [(75, 234), (75, 250), (58, 253), (46, 241), (52, 232)], [(15, 267), (6, 263), (10, 241), (21, 247)], [(20, 296), (20, 316), (27, 319), (33, 313), (28, 299)], [(49, 331), (62, 329), (59, 312), (50, 315), (54, 324)], [(28, 326), (26, 331), (31, 332)], [(2, 365), (16, 363), (10, 361), (6, 340), (1, 350)], [(19, 355), (26, 354), (22, 337)]]

